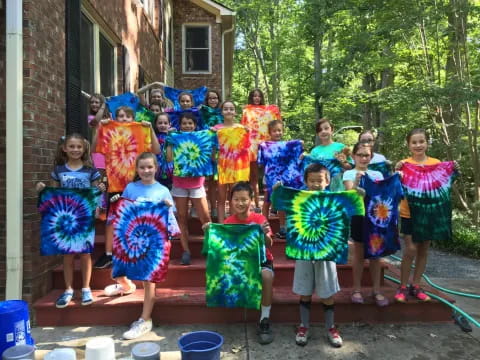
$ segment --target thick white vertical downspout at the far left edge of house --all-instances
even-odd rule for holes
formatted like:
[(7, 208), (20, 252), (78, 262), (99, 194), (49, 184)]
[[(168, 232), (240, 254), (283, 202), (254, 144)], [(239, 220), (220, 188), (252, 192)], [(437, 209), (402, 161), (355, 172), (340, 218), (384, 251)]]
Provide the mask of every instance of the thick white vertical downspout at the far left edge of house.
[(23, 1), (6, 5), (6, 299), (23, 286)]

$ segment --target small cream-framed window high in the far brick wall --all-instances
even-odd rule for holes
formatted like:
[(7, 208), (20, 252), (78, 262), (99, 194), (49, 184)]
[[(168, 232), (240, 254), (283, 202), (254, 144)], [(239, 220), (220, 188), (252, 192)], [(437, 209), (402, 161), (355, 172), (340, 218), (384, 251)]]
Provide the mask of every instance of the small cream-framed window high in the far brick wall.
[(210, 73), (210, 26), (184, 26), (183, 71), (185, 73)]

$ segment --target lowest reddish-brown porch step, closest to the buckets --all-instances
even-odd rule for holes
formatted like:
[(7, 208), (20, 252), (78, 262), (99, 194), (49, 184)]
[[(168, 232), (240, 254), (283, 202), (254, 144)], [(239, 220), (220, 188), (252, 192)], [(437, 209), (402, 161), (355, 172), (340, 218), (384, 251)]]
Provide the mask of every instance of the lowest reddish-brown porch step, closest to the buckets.
[[(392, 304), (386, 308), (377, 307), (366, 298), (363, 305), (353, 305), (350, 301), (351, 288), (342, 289), (335, 295), (335, 321), (338, 323), (408, 323), (451, 321), (451, 311), (437, 301), (421, 303), (416, 300), (407, 304), (393, 303), (396, 285), (386, 282), (382, 291)], [(364, 289), (365, 294), (371, 289)], [(38, 300), (36, 322), (38, 326), (91, 326), (128, 325), (138, 319), (142, 311), (143, 290), (134, 294), (109, 298), (102, 291), (95, 290), (96, 301), (90, 306), (81, 306), (78, 299), (64, 309), (55, 308), (55, 300), (62, 290), (53, 290)], [(203, 287), (182, 289), (157, 288), (156, 304), (152, 314), (155, 324), (193, 323), (239, 323), (258, 321), (259, 312), (244, 309), (210, 308), (205, 303)], [(291, 287), (280, 286), (274, 289), (271, 313), (272, 322), (297, 323), (299, 321), (298, 296)], [(323, 321), (323, 309), (318, 300), (312, 304), (313, 322)]]

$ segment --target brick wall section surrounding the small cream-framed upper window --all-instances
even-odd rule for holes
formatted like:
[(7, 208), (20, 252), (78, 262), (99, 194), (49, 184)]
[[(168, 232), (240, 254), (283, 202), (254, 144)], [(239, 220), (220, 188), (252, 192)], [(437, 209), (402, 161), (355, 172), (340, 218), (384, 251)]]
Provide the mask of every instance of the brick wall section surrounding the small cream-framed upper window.
[[(173, 11), (174, 47), (175, 47), (175, 87), (193, 89), (207, 86), (222, 90), (222, 30), (221, 24), (215, 22), (215, 16), (193, 4), (190, 0), (176, 0)], [(185, 23), (211, 24), (212, 73), (184, 74), (182, 69), (182, 25)]]

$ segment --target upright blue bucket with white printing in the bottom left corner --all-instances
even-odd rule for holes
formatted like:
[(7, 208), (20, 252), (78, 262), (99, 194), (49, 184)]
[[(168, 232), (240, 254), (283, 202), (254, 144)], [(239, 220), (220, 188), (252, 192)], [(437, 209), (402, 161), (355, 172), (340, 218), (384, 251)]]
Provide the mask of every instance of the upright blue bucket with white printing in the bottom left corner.
[(34, 345), (28, 304), (23, 300), (0, 301), (0, 354), (15, 345)]

